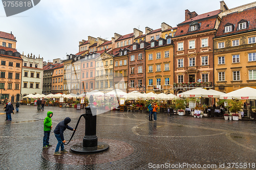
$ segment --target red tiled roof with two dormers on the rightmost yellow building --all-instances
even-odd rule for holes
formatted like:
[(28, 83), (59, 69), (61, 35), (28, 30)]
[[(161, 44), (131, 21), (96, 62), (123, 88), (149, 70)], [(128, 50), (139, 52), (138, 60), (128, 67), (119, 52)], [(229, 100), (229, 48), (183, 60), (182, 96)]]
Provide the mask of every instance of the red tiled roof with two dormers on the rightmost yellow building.
[[(220, 26), (218, 28), (218, 31), (216, 33), (216, 37), (256, 29), (255, 18), (256, 18), (256, 8), (255, 7), (246, 9), (242, 12), (231, 13), (231, 14), (228, 14), (227, 16), (223, 16)], [(248, 25), (248, 28), (239, 30), (238, 22), (241, 21), (242, 19), (248, 21), (249, 25)], [(234, 25), (234, 29), (231, 32), (225, 33), (225, 25), (227, 23), (232, 23), (232, 25)]]

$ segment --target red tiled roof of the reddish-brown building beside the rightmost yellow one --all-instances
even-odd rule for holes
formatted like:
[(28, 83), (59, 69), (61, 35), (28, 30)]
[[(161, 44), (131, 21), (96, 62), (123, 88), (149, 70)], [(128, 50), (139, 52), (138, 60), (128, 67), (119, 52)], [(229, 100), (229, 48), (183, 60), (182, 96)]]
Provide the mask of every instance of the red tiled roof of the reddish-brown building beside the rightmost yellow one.
[(200, 21), (199, 22), (199, 23), (201, 23), (200, 29), (196, 30), (196, 31), (191, 31), (191, 32), (188, 32), (189, 24), (184, 25), (184, 26), (179, 26), (176, 33), (175, 33), (175, 37), (185, 35), (185, 34), (194, 34), (194, 33), (197, 33), (197, 32), (214, 29), (215, 28), (215, 22), (216, 22), (216, 18), (211, 18), (211, 19)]

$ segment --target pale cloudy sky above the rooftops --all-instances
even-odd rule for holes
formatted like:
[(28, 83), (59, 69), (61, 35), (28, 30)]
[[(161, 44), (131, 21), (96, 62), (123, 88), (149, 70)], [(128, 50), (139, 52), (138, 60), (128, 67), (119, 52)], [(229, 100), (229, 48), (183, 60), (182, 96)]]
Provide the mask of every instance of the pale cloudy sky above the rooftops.
[[(251, 2), (225, 0), (229, 9)], [(12, 31), (19, 53), (40, 54), (44, 61), (52, 61), (79, 52), (79, 41), (88, 36), (111, 40), (114, 33), (125, 35), (134, 28), (145, 33), (145, 27), (159, 29), (162, 22), (176, 27), (184, 21), (186, 9), (197, 14), (215, 11), (220, 0), (42, 0), (10, 17), (0, 5), (0, 31)]]

